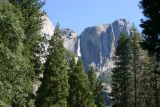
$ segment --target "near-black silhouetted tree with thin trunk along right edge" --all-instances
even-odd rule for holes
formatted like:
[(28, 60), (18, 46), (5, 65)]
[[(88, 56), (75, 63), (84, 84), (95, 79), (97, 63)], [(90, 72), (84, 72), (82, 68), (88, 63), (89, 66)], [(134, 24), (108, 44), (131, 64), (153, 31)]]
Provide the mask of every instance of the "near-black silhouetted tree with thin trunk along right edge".
[(156, 107), (159, 107), (159, 89), (160, 89), (160, 1), (159, 0), (141, 0), (140, 8), (146, 19), (141, 20), (143, 28), (144, 41), (142, 46), (147, 49), (151, 56), (154, 56), (154, 95)]

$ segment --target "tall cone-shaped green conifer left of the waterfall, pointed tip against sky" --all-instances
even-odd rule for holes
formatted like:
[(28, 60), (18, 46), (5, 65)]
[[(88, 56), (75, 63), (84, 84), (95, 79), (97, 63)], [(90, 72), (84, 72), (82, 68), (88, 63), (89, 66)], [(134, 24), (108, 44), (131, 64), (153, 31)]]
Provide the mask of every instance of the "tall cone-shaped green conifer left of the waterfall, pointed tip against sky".
[(67, 107), (68, 71), (61, 30), (57, 25), (50, 40), (42, 84), (37, 92), (37, 107)]

